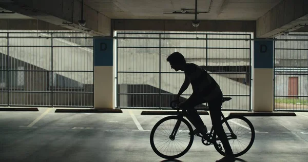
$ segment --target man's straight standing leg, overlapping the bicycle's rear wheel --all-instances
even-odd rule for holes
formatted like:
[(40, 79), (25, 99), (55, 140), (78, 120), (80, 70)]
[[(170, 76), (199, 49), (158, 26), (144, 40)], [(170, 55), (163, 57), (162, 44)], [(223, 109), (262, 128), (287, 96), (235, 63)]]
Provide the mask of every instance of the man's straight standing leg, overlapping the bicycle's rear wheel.
[(227, 139), (227, 135), (223, 130), (221, 123), (221, 105), (222, 105), (222, 98), (220, 97), (208, 103), (210, 117), (214, 131), (221, 140), (223, 148), (225, 149), (226, 156), (233, 156), (233, 152), (230, 147), (229, 141)]

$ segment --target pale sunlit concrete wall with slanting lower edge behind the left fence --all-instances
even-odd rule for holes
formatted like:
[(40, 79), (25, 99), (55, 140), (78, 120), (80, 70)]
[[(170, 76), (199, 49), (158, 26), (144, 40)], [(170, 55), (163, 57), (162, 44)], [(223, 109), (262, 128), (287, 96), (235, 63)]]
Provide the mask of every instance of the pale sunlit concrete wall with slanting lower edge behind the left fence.
[[(2, 34), (6, 35), (6, 33)], [(10, 36), (47, 36), (46, 34), (10, 34)], [(49, 36), (49, 35), (48, 35)], [(82, 38), (80, 38), (82, 39)], [(7, 39), (0, 38), (0, 46), (7, 46)], [(51, 46), (51, 39), (46, 38), (10, 38), (9, 46)], [(9, 55), (12, 58), (38, 68), (63, 71), (91, 71), (93, 70), (93, 50), (79, 46), (61, 38), (53, 38), (53, 58), (51, 58), (51, 47), (10, 47)], [(67, 47), (61, 47), (67, 46)], [(8, 53), (7, 47), (0, 47), (0, 52)], [(83, 84), (93, 84), (93, 74), (74, 72), (55, 72), (68, 78), (72, 78)]]

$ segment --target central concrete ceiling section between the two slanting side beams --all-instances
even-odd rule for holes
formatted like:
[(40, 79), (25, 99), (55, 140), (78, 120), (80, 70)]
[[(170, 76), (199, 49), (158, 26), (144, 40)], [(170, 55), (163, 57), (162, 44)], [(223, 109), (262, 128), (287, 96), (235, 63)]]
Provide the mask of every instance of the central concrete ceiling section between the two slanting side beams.
[[(198, 0), (198, 19), (255, 21), (282, 0)], [(84, 0), (114, 19), (194, 19), (194, 14), (163, 14), (195, 9), (194, 0)]]

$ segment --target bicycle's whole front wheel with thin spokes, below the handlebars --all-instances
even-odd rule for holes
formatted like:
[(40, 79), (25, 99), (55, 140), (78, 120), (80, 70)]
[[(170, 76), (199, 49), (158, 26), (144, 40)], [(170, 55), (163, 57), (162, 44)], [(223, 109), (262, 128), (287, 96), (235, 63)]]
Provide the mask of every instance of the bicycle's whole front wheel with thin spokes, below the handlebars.
[[(158, 121), (150, 134), (150, 144), (153, 151), (165, 159), (175, 159), (183, 156), (191, 147), (194, 141), (194, 130), (184, 118), (178, 127), (174, 138), (170, 137), (179, 118), (177, 116), (167, 116)], [(180, 121), (179, 121), (180, 122)], [(189, 135), (189, 132), (191, 132)]]

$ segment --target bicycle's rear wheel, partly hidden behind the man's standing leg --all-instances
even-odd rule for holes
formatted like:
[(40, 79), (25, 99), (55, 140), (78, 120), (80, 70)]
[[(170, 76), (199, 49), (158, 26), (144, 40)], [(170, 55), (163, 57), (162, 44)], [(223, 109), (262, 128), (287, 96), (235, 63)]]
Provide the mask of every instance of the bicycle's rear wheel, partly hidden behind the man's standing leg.
[[(232, 131), (227, 127), (227, 124)], [(252, 147), (255, 140), (255, 128), (247, 118), (244, 116), (228, 116), (222, 120), (222, 126), (236, 157), (243, 155)], [(214, 141), (215, 149), (221, 155), (225, 155), (225, 150), (215, 131), (213, 136), (216, 137), (216, 142)]]

